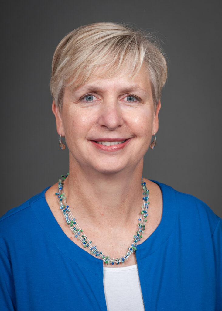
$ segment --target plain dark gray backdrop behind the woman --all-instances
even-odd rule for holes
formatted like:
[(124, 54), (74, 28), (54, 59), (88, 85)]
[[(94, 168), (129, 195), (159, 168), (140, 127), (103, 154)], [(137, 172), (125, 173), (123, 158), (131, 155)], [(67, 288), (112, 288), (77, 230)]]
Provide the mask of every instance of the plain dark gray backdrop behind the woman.
[(195, 195), (222, 216), (221, 2), (26, 0), (1, 11), (1, 214), (68, 171), (49, 91), (58, 42), (78, 26), (117, 21), (154, 31), (169, 61), (144, 177)]

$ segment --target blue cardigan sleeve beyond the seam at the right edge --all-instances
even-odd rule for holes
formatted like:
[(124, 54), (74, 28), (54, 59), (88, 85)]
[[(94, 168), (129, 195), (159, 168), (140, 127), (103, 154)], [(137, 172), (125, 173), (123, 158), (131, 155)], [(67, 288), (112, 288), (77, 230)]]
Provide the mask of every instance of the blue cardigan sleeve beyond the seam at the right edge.
[(216, 304), (215, 311), (222, 309), (222, 220), (219, 219), (212, 235), (214, 254), (215, 254), (215, 273), (216, 273)]

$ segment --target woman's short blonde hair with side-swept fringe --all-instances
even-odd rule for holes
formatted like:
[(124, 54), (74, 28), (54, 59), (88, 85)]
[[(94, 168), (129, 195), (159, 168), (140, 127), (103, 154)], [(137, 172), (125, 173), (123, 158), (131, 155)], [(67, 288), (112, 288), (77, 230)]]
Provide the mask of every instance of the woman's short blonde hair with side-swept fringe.
[(103, 66), (103, 77), (124, 69), (135, 77), (147, 65), (155, 108), (167, 78), (167, 65), (157, 40), (141, 30), (100, 22), (71, 31), (58, 44), (52, 62), (50, 90), (55, 104), (62, 109), (64, 88), (78, 87)]

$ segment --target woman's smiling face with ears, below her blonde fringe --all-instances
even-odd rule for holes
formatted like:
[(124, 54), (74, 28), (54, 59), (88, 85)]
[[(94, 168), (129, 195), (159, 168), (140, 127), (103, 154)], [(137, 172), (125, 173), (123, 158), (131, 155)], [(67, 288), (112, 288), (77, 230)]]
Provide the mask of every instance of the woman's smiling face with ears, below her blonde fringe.
[(62, 112), (53, 103), (58, 134), (65, 136), (70, 163), (101, 173), (135, 169), (158, 130), (148, 74), (135, 78), (92, 77), (76, 90), (66, 88)]

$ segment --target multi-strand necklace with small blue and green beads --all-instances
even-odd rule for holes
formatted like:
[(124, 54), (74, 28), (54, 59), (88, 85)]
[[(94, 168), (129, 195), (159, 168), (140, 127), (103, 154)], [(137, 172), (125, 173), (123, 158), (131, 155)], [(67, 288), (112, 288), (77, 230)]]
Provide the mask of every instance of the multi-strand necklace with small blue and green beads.
[(69, 226), (69, 228), (72, 230), (74, 233), (74, 236), (76, 239), (79, 239), (80, 242), (83, 244), (83, 247), (86, 247), (90, 250), (90, 254), (95, 255), (97, 258), (100, 258), (104, 261), (106, 264), (114, 264), (114, 263), (121, 263), (125, 262), (129, 256), (136, 251), (136, 246), (137, 242), (141, 240), (142, 234), (145, 230), (145, 224), (146, 224), (146, 217), (148, 216), (147, 214), (147, 209), (150, 204), (148, 202), (149, 199), (149, 190), (146, 188), (146, 183), (141, 179), (141, 186), (143, 189), (143, 204), (141, 205), (141, 218), (139, 218), (139, 223), (138, 223), (138, 228), (136, 231), (136, 234), (133, 235), (133, 240), (132, 244), (128, 248), (128, 251), (126, 255), (120, 258), (112, 258), (110, 256), (105, 255), (103, 252), (100, 252), (96, 246), (92, 245), (92, 241), (90, 241), (86, 235), (84, 234), (83, 230), (80, 228), (80, 226), (76, 222), (76, 218), (72, 216), (72, 213), (69, 209), (69, 206), (66, 203), (66, 196), (65, 193), (62, 193), (63, 190), (63, 185), (64, 185), (64, 180), (67, 178), (69, 173), (66, 175), (61, 175), (61, 179), (58, 181), (58, 192), (55, 193), (55, 195), (58, 197), (58, 202), (59, 202), (59, 207), (63, 212), (63, 215), (66, 219), (66, 223)]

